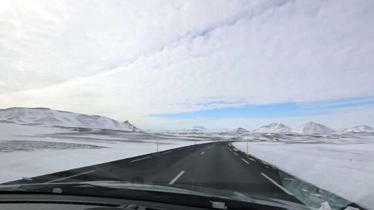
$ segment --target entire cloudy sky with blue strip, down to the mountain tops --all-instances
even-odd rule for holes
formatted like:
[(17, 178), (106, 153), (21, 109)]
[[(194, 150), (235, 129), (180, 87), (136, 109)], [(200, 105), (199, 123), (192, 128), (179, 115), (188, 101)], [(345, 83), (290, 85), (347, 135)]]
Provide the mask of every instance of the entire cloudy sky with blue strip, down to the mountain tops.
[(0, 108), (374, 126), (374, 1), (0, 1)]

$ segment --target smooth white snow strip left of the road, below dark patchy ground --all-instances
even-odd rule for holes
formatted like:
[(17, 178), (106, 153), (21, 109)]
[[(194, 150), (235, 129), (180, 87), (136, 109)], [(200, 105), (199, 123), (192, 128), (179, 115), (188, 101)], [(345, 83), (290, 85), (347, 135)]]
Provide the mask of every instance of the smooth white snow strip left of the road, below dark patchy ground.
[[(82, 142), (78, 142), (82, 143)], [(165, 144), (169, 143), (169, 144)], [(160, 151), (188, 146), (193, 142), (163, 142), (159, 145)], [(22, 151), (14, 153), (0, 153), (0, 183), (19, 180), (22, 177), (34, 177), (58, 171), (89, 166), (131, 158), (157, 151), (157, 144), (148, 143), (116, 143), (94, 144), (96, 146), (110, 146), (105, 149), (68, 149), (68, 150), (42, 150)]]

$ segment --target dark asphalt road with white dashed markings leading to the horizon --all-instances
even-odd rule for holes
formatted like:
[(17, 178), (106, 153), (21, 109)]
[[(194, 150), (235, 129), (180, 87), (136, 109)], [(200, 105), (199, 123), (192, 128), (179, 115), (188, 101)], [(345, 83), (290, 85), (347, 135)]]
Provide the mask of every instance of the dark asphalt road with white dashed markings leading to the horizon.
[(238, 151), (229, 142), (214, 142), (41, 175), (32, 180), (17, 180), (7, 184), (120, 180), (226, 189), (299, 202), (290, 191), (282, 187), (279, 172), (276, 167)]

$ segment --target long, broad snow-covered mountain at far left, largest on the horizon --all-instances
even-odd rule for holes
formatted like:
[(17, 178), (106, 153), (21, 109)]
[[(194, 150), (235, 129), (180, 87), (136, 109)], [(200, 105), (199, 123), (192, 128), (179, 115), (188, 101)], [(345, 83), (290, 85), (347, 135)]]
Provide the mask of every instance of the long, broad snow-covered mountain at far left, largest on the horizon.
[(140, 131), (130, 122), (118, 122), (109, 117), (83, 115), (51, 108), (5, 108), (0, 109), (0, 122), (16, 124), (45, 124), (52, 126), (105, 128), (122, 131)]

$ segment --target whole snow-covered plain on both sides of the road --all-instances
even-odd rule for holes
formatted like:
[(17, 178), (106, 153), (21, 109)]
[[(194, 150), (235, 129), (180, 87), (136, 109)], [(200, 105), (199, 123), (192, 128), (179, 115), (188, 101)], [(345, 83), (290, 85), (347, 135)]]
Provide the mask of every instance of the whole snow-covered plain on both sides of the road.
[[(217, 140), (364, 207), (374, 202), (374, 133), (144, 133), (0, 122), (0, 183)], [(234, 146), (245, 151), (245, 142)], [(369, 209), (369, 208), (368, 208)]]

